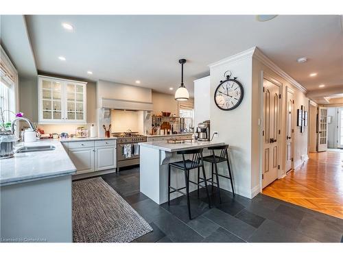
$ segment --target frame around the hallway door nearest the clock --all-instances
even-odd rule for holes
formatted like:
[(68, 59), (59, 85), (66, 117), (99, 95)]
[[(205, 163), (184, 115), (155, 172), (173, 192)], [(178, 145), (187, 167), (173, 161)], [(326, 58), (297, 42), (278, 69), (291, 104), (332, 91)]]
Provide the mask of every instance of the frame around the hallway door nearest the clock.
[[(279, 115), (278, 115), (278, 137), (276, 138), (278, 142), (278, 149), (281, 149), (281, 117), (283, 113), (283, 84), (279, 82), (278, 79), (275, 79), (272, 75), (269, 75), (268, 73), (265, 73), (264, 71), (261, 71), (260, 74), (260, 79), (259, 79), (259, 99), (260, 99), (260, 118), (259, 118), (259, 185), (260, 185), (260, 192), (262, 193), (263, 190), (263, 185), (262, 185), (262, 175), (263, 175), (263, 124), (264, 124), (264, 117), (263, 117), (263, 106), (264, 106), (264, 101), (263, 101), (263, 80), (266, 79), (277, 86), (279, 86), (279, 94), (281, 95), (281, 101), (279, 101)], [(279, 150), (278, 155), (277, 155), (278, 161), (277, 165), (280, 167), (278, 169), (278, 178), (282, 178), (282, 167), (281, 167), (281, 151)]]

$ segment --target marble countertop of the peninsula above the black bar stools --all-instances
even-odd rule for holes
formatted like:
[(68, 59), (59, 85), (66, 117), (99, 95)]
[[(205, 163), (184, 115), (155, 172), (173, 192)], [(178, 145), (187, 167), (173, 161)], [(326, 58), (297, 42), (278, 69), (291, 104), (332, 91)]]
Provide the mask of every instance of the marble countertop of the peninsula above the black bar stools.
[(189, 149), (197, 149), (197, 148), (206, 148), (206, 147), (214, 147), (216, 145), (224, 145), (223, 142), (220, 141), (193, 141), (193, 142), (185, 142), (185, 143), (167, 143), (164, 141), (154, 141), (154, 142), (144, 142), (139, 143), (141, 147), (151, 147), (155, 149), (160, 149), (163, 151), (181, 151), (181, 150), (189, 150)]

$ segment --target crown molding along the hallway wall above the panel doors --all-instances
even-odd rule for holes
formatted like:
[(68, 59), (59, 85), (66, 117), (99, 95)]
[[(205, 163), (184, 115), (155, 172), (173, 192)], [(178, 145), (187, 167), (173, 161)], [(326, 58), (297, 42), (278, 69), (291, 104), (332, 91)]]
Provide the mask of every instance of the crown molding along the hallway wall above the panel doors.
[(304, 86), (300, 85), (298, 82), (296, 82), (296, 80), (293, 77), (289, 76), (279, 66), (277, 66), (274, 62), (272, 62), (272, 60), (270, 60), (270, 58), (265, 56), (265, 54), (258, 47), (255, 47), (253, 58), (256, 58), (257, 60), (265, 64), (265, 66), (268, 66), (268, 68), (270, 68), (280, 77), (283, 77), (283, 79), (289, 82), (289, 84), (292, 84), (292, 86), (295, 86), (296, 88), (298, 88), (298, 90), (300, 90), (301, 92), (307, 93), (307, 89)]

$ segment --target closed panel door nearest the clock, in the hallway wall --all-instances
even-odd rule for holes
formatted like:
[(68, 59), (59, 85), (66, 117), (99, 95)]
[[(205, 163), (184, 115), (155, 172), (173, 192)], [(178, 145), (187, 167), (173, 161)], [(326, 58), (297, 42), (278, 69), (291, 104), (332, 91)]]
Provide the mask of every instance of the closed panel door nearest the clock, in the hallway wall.
[(263, 79), (262, 187), (278, 178), (279, 170), (279, 93), (280, 86)]

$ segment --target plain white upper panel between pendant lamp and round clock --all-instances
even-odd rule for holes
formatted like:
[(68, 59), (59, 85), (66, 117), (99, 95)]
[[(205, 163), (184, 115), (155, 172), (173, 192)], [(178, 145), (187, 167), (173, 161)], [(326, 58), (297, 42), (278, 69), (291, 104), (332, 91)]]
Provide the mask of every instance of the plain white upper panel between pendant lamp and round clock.
[(194, 126), (210, 119), (211, 77), (194, 80)]

